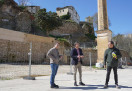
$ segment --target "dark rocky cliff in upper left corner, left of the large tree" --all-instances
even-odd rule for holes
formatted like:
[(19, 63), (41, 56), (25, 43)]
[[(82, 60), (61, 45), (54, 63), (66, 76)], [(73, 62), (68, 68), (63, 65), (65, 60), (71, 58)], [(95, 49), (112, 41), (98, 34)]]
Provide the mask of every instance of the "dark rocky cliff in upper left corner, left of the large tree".
[(0, 1), (0, 27), (21, 31), (31, 31), (31, 15), (23, 10), (14, 0)]

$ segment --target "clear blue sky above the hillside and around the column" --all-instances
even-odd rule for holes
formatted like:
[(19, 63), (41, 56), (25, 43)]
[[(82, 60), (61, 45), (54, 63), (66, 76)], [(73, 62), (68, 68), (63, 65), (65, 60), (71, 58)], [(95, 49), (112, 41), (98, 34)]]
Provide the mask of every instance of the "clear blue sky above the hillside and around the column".
[[(52, 12), (56, 12), (57, 7), (74, 6), (81, 21), (98, 12), (97, 0), (30, 0), (28, 4)], [(115, 35), (132, 34), (132, 0), (107, 0), (107, 10), (111, 22), (109, 29)]]

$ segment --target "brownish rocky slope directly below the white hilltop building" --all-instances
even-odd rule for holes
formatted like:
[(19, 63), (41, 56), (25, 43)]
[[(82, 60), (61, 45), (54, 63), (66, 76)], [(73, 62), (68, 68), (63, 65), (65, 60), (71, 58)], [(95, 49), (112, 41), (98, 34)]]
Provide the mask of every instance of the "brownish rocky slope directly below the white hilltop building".
[(77, 24), (71, 20), (67, 20), (63, 22), (61, 27), (50, 32), (50, 35), (54, 36), (61, 36), (63, 34), (72, 35), (73, 42), (88, 42), (91, 40), (86, 37), (86, 34), (94, 35), (94, 29), (91, 26), (86, 26), (85, 23)]

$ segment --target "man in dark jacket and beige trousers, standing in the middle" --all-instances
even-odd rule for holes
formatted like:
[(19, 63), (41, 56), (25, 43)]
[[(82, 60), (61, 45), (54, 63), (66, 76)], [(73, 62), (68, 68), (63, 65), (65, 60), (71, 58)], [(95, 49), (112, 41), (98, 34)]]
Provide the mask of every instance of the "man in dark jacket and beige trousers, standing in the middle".
[(77, 74), (77, 69), (79, 71), (79, 78), (80, 78), (80, 82), (79, 85), (85, 85), (82, 82), (82, 58), (83, 53), (82, 53), (82, 49), (79, 48), (79, 43), (75, 43), (75, 48), (73, 48), (73, 50), (71, 51), (71, 57), (72, 57), (72, 65), (74, 66), (74, 86), (78, 86), (77, 85), (77, 81), (76, 81), (76, 74)]

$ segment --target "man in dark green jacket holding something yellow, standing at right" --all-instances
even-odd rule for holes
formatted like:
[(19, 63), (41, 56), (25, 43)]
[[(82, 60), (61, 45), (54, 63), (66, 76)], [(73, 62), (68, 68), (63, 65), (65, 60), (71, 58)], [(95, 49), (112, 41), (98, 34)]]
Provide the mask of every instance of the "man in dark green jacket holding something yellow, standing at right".
[(110, 41), (108, 43), (108, 49), (105, 51), (104, 54), (104, 68), (106, 68), (107, 63), (107, 75), (106, 75), (106, 82), (104, 88), (108, 87), (108, 82), (110, 78), (111, 69), (114, 71), (114, 79), (116, 88), (120, 88), (118, 86), (118, 75), (117, 75), (117, 67), (118, 67), (118, 59), (122, 57), (120, 51), (114, 46), (114, 42)]

